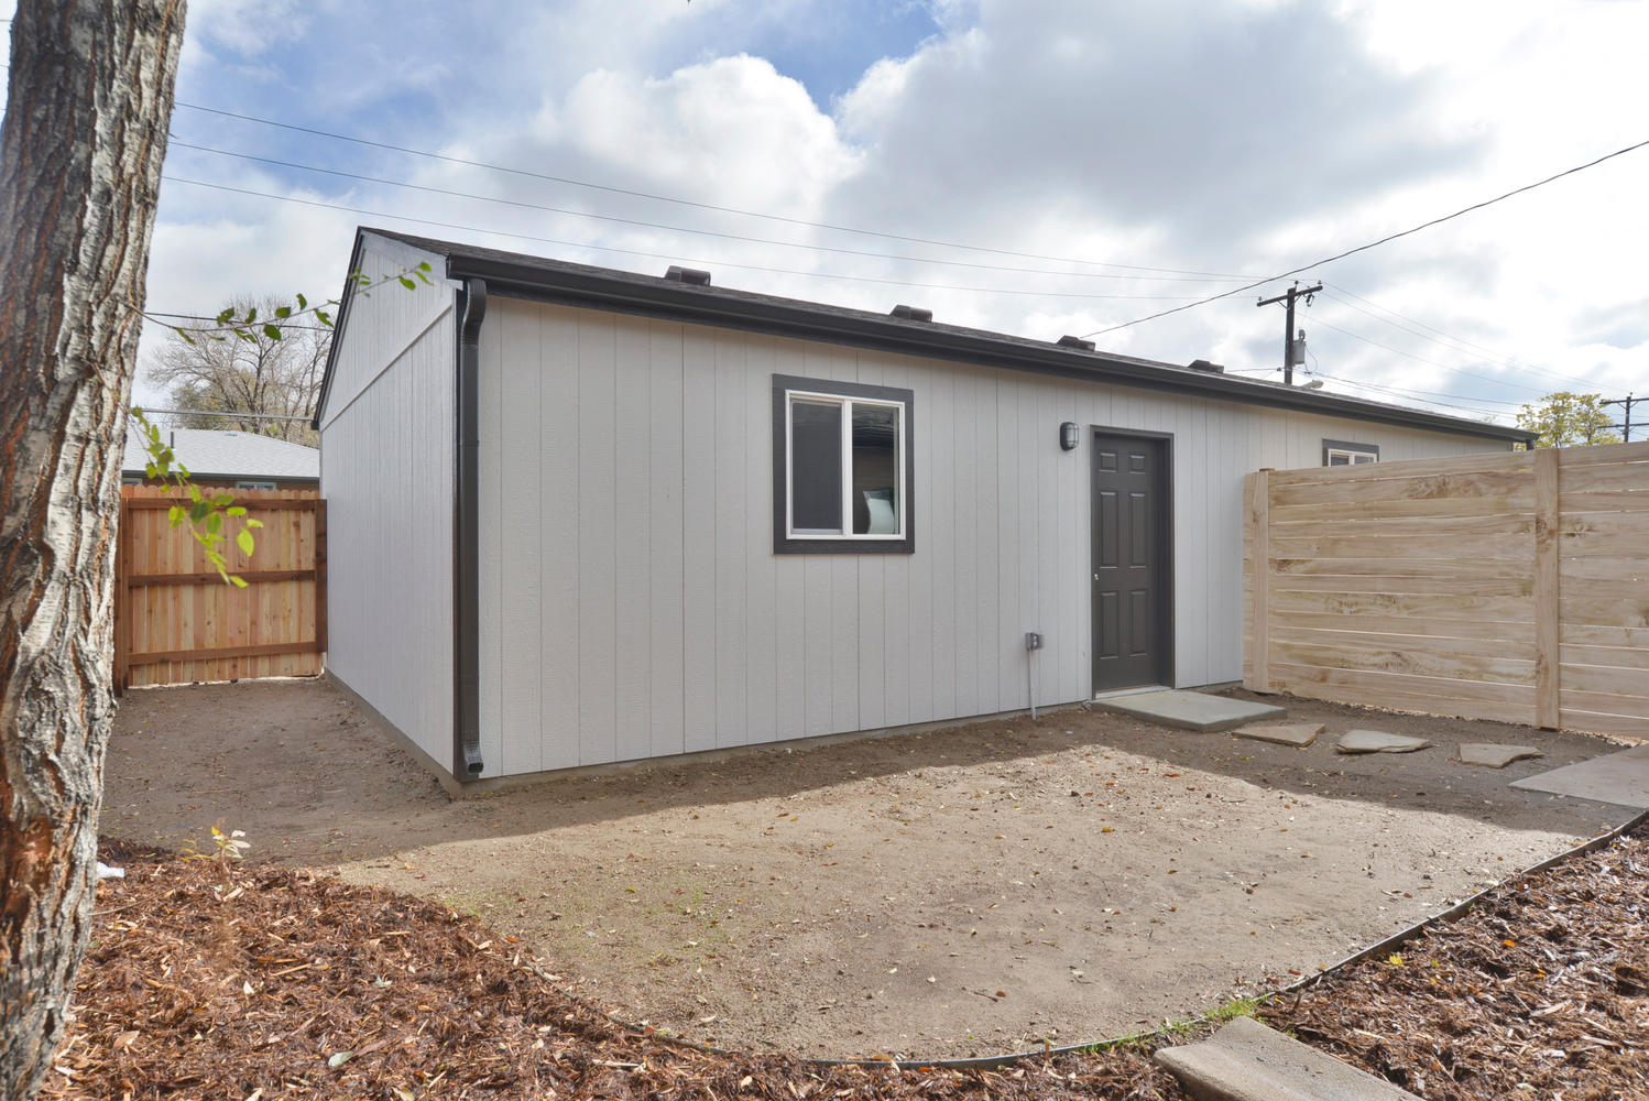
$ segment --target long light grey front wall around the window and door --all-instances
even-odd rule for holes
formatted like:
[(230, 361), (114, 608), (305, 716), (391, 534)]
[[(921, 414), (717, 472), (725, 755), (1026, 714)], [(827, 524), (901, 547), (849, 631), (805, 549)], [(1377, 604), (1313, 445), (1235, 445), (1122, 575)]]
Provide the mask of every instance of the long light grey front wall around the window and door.
[[(1027, 630), (1087, 699), (1062, 420), (1174, 435), (1177, 686), (1242, 676), (1245, 471), (1506, 447), (496, 295), (480, 372), (486, 776), (1021, 709)], [(773, 374), (914, 391), (915, 554), (773, 554)]]

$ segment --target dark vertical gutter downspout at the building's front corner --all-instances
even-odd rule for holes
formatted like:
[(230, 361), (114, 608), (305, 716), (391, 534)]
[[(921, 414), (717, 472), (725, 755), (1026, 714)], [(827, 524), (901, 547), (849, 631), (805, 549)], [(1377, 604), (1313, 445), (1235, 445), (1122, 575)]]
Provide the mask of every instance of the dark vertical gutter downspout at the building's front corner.
[(452, 775), (482, 775), (480, 343), (486, 280), (465, 279), (458, 325), (458, 424), (452, 493)]

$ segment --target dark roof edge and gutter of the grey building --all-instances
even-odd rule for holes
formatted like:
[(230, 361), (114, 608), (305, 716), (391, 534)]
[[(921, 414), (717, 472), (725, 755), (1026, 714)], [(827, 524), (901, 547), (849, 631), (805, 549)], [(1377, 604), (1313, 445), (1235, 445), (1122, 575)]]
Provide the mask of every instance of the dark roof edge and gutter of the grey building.
[[(1245, 379), (1212, 369), (1202, 359), (1197, 361), (1199, 366), (1138, 359), (1135, 356), (1092, 351), (1087, 341), (1070, 343), (1069, 338), (1062, 338), (1062, 341), (1036, 341), (1024, 336), (920, 320), (918, 316), (912, 316), (909, 308), (902, 308), (897, 315), (871, 313), (867, 310), (849, 310), (821, 302), (780, 298), (777, 295), (731, 290), (679, 279), (637, 275), (633, 272), (549, 260), (519, 252), (483, 249), (453, 241), (435, 241), (364, 226), (355, 236), (355, 252), (350, 260), (351, 270), (359, 269), (361, 249), (368, 237), (401, 242), (444, 257), (447, 270), (439, 272), (440, 275), (453, 280), (480, 279), (485, 280), (488, 292), (510, 297), (594, 310), (640, 313), (699, 325), (719, 325), (803, 340), (823, 340), (836, 344), (879, 348), (912, 356), (1057, 374), (1093, 382), (1177, 391), (1253, 405), (1299, 409), (1329, 417), (1355, 417), (1377, 424), (1431, 429), (1507, 442), (1527, 443), (1539, 435), (1527, 429), (1512, 429), (1466, 417), (1448, 417), (1407, 405), (1388, 405), (1344, 394), (1283, 386), (1281, 382)], [(338, 312), (340, 330), (348, 325), (353, 292), (355, 283), (346, 283), (343, 305)], [(331, 356), (338, 354), (341, 343), (341, 338), (333, 341)], [(315, 412), (315, 427), (320, 427), (320, 412), (327, 407), (331, 366), (331, 359), (328, 359)]]

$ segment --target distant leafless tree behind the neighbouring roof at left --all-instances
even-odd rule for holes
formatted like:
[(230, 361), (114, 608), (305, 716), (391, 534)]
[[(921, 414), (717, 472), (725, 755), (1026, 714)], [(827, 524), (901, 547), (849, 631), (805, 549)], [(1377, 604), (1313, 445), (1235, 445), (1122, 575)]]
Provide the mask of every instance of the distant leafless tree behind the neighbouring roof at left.
[[(239, 297), (236, 316), (275, 318), (285, 305), (275, 298)], [(254, 325), (236, 331), (171, 330), (145, 364), (148, 379), (167, 387), (171, 409), (200, 410), (178, 417), (183, 429), (239, 429), (294, 443), (315, 443), (307, 420), (259, 420), (249, 414), (312, 417), (320, 397), (331, 330), (325, 325), (282, 323), (279, 336)], [(239, 414), (239, 415), (237, 415)]]

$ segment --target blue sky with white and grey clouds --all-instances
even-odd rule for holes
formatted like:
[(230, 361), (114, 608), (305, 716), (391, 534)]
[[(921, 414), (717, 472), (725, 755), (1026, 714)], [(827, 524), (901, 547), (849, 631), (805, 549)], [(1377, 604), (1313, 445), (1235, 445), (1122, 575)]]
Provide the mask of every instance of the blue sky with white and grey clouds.
[(193, 0), (147, 308), (336, 297), (366, 224), (1280, 381), (1299, 279), (1296, 384), (1510, 422), (1649, 394), (1649, 148), (1321, 260), (1649, 140), (1646, 41), (1624, 0)]

